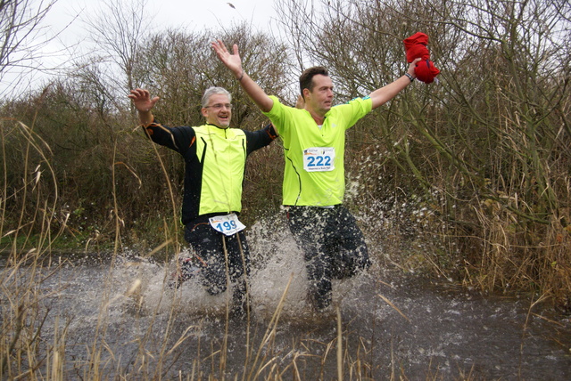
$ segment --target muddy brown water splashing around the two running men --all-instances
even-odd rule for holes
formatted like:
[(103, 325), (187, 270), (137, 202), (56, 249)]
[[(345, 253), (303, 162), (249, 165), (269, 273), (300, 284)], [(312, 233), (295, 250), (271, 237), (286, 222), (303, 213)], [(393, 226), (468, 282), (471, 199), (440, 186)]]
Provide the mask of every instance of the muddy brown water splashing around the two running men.
[[(71, 261), (42, 283), (44, 349), (55, 318), (60, 335), (67, 325), (65, 379), (85, 379), (93, 348), (103, 379), (338, 379), (336, 311), (310, 311), (296, 255), (252, 272), (249, 323), (227, 325), (226, 294), (208, 296), (196, 280), (167, 288), (171, 271), (131, 255)], [(334, 290), (343, 379), (571, 379), (569, 317), (537, 296), (482, 296), (378, 266)]]

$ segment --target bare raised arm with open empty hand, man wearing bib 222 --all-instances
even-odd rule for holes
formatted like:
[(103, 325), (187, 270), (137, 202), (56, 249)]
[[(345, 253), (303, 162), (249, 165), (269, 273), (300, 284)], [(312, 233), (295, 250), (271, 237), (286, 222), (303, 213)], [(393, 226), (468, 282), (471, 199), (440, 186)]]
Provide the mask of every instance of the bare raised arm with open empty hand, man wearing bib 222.
[(228, 49), (220, 40), (212, 42), (212, 49), (214, 49), (220, 61), (234, 73), (234, 76), (238, 82), (240, 82), (240, 85), (250, 99), (252, 99), (263, 112), (268, 112), (274, 105), (274, 101), (261, 89), (260, 85), (256, 84), (252, 78), (244, 72), (242, 59), (238, 53), (238, 45), (234, 45), (233, 54), (228, 52)]

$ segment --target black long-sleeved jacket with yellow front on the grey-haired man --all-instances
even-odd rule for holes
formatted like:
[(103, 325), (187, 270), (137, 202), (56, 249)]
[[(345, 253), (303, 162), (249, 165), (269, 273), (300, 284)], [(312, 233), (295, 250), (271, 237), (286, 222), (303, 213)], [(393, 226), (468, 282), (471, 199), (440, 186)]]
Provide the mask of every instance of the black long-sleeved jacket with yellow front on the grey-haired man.
[(242, 185), (248, 155), (276, 139), (273, 126), (251, 132), (214, 125), (162, 126), (156, 121), (145, 133), (157, 144), (176, 150), (185, 159), (182, 223), (199, 216), (242, 210)]

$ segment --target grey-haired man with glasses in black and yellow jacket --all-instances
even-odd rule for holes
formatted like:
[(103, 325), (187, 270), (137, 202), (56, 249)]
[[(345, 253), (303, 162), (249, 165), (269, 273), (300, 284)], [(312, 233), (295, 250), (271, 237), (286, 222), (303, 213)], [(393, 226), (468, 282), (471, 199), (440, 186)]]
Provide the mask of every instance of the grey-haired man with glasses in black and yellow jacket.
[(232, 311), (243, 314), (247, 305), (245, 278), (249, 273), (249, 250), (245, 226), (238, 217), (242, 209), (245, 160), (252, 151), (267, 146), (277, 137), (273, 126), (255, 132), (228, 128), (232, 95), (222, 87), (211, 87), (204, 92), (201, 113), (205, 124), (194, 127), (158, 123), (151, 110), (159, 97), (151, 98), (145, 89), (131, 90), (128, 97), (137, 108), (145, 134), (185, 159), (181, 219), (185, 239), (200, 259), (204, 288), (217, 295), (228, 288), (229, 279), (234, 284)]

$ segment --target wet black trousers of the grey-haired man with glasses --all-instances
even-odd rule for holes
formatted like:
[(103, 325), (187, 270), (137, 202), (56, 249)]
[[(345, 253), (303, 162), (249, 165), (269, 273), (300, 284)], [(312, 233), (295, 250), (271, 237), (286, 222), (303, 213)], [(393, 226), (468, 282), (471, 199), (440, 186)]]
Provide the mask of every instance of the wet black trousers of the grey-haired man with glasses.
[[(244, 305), (246, 292), (244, 267), (246, 276), (250, 274), (250, 255), (244, 231), (226, 236), (212, 229), (209, 223), (188, 223), (185, 227), (185, 239), (193, 247), (196, 255), (200, 256), (205, 263), (200, 273), (203, 286), (211, 295), (217, 295), (228, 288), (224, 254), (224, 245), (226, 244), (228, 276), (230, 282), (235, 284), (234, 304), (236, 306)], [(240, 250), (240, 244), (242, 250)], [(242, 257), (243, 254), (244, 258)]]

